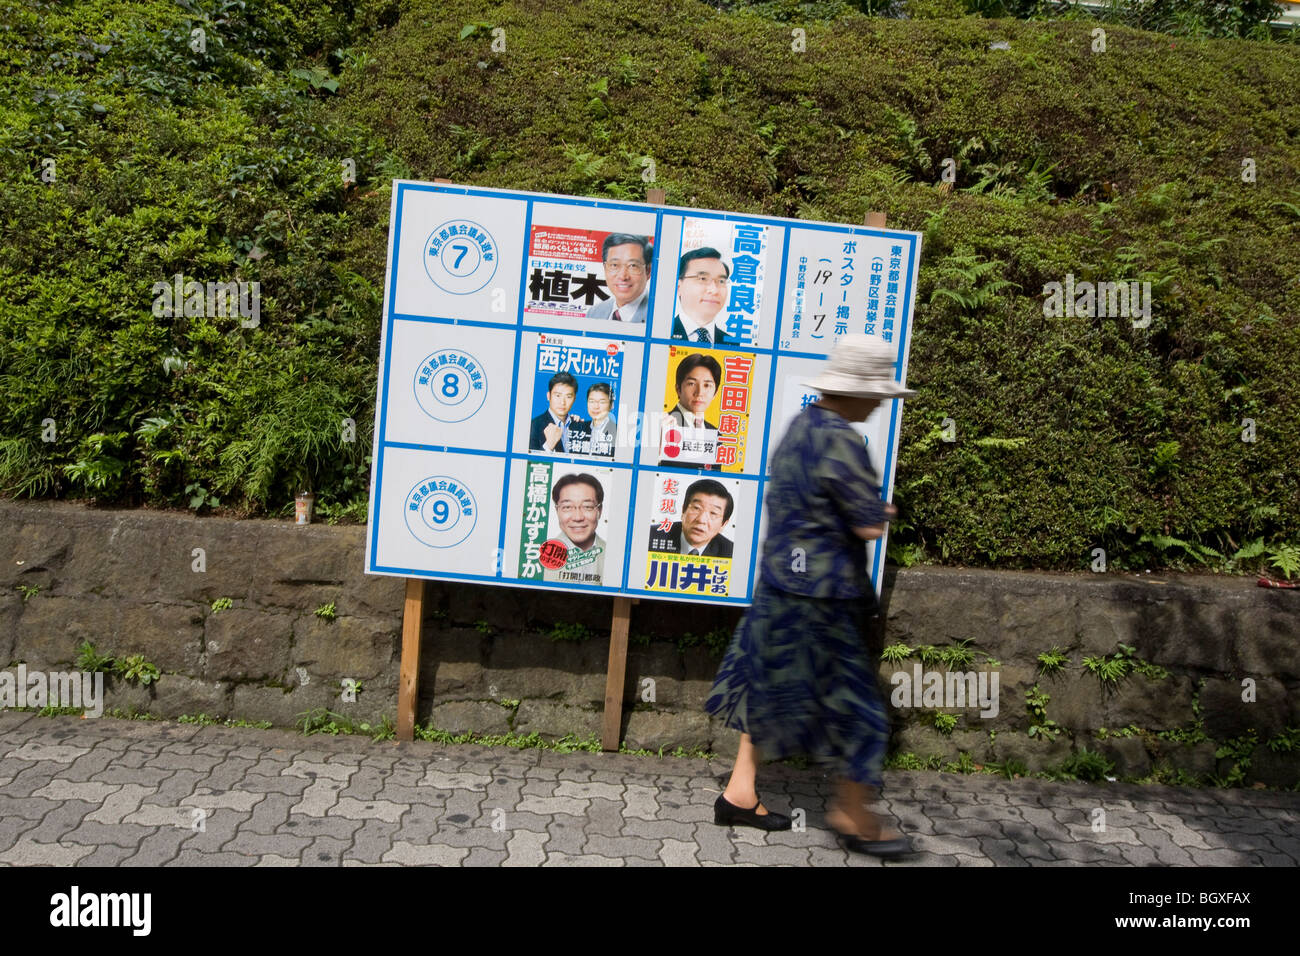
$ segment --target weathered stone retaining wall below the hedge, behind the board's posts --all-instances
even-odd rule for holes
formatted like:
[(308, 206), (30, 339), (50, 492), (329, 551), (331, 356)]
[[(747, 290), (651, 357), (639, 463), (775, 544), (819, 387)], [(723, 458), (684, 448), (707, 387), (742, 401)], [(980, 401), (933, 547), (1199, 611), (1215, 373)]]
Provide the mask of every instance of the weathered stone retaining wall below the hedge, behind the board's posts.
[[(361, 574), (363, 533), (0, 502), (0, 663), (62, 670), (91, 641), (100, 653), (142, 654), (162, 672), (148, 688), (110, 680), (109, 708), (281, 726), (315, 708), (391, 717), (403, 581)], [(228, 610), (213, 610), (220, 598)], [(332, 602), (333, 620), (315, 614)], [(430, 583), (425, 607), (421, 722), (552, 739), (599, 731), (611, 600)], [(1240, 765), (1247, 782), (1300, 779), (1300, 741), (1288, 750), (1284, 735), (1300, 727), (1300, 594), (1217, 576), (911, 568), (888, 575), (885, 613), (885, 644), (970, 641), (974, 662), (959, 670), (1000, 679), (997, 715), (949, 709), (958, 717), (950, 732), (932, 726), (936, 708), (892, 708), (897, 752), (1037, 770), (1087, 747), (1123, 775), (1165, 766), (1222, 778)], [(734, 752), (736, 734), (702, 711), (718, 657), (684, 646), (682, 636), (729, 633), (738, 617), (659, 601), (633, 609), (627, 747)], [(580, 635), (577, 624), (595, 636), (552, 640)], [(1119, 644), (1167, 676), (1132, 674), (1106, 687), (1083, 667)], [(1070, 662), (1040, 675), (1037, 656), (1053, 645)], [(885, 662), (885, 693), (892, 675), (913, 674), (916, 662)], [(360, 682), (356, 702), (341, 700), (343, 678)], [(1050, 698), (1054, 740), (1027, 735), (1035, 685)], [(1179, 730), (1191, 743), (1169, 739)], [(1217, 757), (1225, 745), (1232, 754)]]

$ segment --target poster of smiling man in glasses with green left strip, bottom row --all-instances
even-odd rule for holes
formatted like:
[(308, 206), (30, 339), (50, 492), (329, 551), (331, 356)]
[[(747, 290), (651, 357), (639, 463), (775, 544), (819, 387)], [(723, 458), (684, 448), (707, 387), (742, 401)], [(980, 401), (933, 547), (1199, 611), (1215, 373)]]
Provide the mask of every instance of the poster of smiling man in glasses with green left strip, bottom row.
[(520, 580), (604, 584), (610, 525), (604, 496), (612, 488), (612, 468), (528, 462), (524, 467)]

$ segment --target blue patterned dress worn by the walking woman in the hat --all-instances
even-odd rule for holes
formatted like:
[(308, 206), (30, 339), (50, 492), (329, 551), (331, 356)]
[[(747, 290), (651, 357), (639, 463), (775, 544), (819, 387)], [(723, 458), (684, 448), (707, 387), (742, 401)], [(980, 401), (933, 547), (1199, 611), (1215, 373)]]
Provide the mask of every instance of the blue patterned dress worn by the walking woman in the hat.
[(764, 758), (805, 753), (879, 787), (889, 721), (864, 644), (878, 604), (852, 529), (884, 523), (885, 511), (844, 418), (810, 405), (790, 423), (771, 460), (767, 520), (754, 602), (705, 709)]

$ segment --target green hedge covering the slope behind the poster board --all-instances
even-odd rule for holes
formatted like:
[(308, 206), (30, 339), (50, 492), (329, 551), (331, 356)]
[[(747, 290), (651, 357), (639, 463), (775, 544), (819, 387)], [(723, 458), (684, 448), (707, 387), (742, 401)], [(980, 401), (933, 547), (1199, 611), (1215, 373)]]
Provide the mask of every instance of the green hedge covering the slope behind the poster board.
[[(671, 204), (924, 232), (898, 559), (1228, 567), (1300, 540), (1294, 47), (846, 14), (794, 52), (754, 10), (412, 1), (272, 4), (200, 59), (192, 13), (82, 7), (29, 10), (3, 55), (10, 493), (278, 511), (311, 483), (360, 514), (387, 179), (642, 199), (650, 157)], [(261, 325), (155, 319), (177, 272), (259, 280)], [(1066, 273), (1152, 282), (1150, 326), (1045, 316)]]

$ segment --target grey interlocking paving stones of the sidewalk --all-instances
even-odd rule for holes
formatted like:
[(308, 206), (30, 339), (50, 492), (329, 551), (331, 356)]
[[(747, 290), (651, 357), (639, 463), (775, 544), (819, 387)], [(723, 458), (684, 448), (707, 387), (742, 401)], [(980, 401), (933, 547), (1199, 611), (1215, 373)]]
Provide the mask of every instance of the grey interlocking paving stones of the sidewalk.
[[(0, 864), (880, 866), (828, 782), (764, 767), (802, 832), (714, 825), (727, 761), (372, 743), (0, 714)], [(916, 856), (889, 866), (1295, 866), (1300, 795), (888, 773)]]

